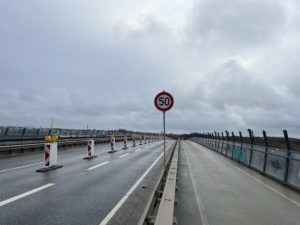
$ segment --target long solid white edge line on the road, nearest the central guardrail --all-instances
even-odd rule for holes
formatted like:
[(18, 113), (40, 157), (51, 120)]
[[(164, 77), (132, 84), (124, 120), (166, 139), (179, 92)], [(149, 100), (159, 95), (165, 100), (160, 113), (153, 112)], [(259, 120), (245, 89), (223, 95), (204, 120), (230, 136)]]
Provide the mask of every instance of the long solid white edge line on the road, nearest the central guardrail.
[(117, 203), (117, 205), (107, 214), (107, 216), (101, 221), (99, 225), (106, 225), (111, 218), (116, 214), (116, 212), (121, 208), (127, 198), (132, 194), (132, 192), (137, 188), (137, 186), (142, 182), (142, 180), (147, 176), (150, 170), (155, 166), (155, 164), (163, 156), (161, 153), (158, 158), (151, 164), (151, 166), (146, 170), (146, 172), (138, 179), (138, 181), (130, 188), (130, 190), (123, 196), (123, 198)]

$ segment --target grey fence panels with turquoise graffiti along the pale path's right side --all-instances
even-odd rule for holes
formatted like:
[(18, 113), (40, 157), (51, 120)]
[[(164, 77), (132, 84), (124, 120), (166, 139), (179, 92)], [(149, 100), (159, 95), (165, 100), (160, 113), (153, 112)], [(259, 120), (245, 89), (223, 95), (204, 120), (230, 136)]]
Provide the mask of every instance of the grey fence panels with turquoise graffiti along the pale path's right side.
[(300, 154), (297, 152), (228, 140), (189, 139), (300, 191)]

